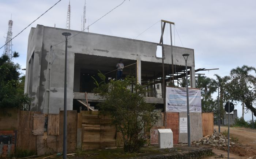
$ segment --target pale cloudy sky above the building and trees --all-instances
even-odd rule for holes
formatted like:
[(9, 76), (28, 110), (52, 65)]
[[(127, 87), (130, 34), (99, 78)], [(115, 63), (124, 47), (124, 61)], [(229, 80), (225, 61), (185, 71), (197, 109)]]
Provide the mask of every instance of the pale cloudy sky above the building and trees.
[[(0, 0), (0, 45), (5, 43), (8, 20), (11, 17), (14, 37), (57, 1), (59, 0)], [(86, 0), (86, 25), (123, 1)], [(14, 62), (19, 63), (21, 68), (26, 67), (30, 28), (37, 24), (65, 28), (68, 3), (69, 0), (61, 0), (12, 41), (12, 51), (20, 53), (20, 57)], [(84, 0), (70, 0), (70, 5), (71, 29), (80, 31)], [(255, 0), (125, 0), (122, 5), (91, 25), (89, 32), (159, 43), (159, 20), (172, 21), (175, 23), (175, 29), (172, 26), (173, 45), (194, 49), (195, 69), (219, 68), (198, 72), (215, 79), (214, 74), (225, 76), (232, 68), (244, 64), (256, 67), (255, 8)], [(148, 30), (145, 31), (146, 29)], [(143, 31), (145, 32), (142, 33)], [(165, 44), (170, 44), (170, 29), (166, 29), (163, 40)], [(3, 48), (0, 49), (0, 53), (3, 51)], [(215, 93), (213, 97), (216, 96)], [(240, 117), (240, 104), (236, 109)], [(251, 112), (245, 114), (245, 120), (250, 119)]]

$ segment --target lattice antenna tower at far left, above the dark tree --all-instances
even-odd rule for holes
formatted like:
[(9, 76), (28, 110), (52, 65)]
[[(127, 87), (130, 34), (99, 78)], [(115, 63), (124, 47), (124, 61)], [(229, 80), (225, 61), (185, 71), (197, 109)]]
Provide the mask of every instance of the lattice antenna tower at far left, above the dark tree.
[(13, 21), (9, 20), (8, 32), (7, 32), (7, 37), (6, 37), (6, 41), (5, 41), (5, 44), (6, 43), (7, 44), (4, 46), (4, 54), (10, 58), (12, 57), (12, 41), (10, 41), (12, 39), (12, 24), (13, 24)]

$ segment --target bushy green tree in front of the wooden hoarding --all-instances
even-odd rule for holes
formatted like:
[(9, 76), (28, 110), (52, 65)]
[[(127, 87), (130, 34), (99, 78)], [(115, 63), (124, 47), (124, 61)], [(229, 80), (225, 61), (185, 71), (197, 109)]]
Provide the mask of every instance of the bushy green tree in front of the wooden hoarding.
[(124, 151), (135, 152), (145, 144), (145, 135), (157, 122), (155, 107), (144, 101), (143, 96), (148, 91), (146, 86), (137, 83), (134, 77), (128, 76), (123, 81), (110, 80), (105, 82), (105, 76), (98, 73), (102, 80), (95, 79), (95, 93), (104, 99), (98, 106), (102, 112), (109, 112), (124, 140)]

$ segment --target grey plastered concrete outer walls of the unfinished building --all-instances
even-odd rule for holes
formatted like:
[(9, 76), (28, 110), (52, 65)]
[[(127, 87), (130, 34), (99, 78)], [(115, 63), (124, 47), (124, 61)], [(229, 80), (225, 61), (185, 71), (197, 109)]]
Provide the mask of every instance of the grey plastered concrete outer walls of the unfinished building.
[[(72, 110), (73, 90), (79, 90), (77, 87), (73, 88), (74, 80), (75, 82), (80, 80), (78, 79), (80, 75), (78, 75), (77, 71), (79, 68), (74, 68), (75, 53), (162, 63), (162, 59), (156, 57), (157, 43), (37, 25), (36, 28), (31, 28), (29, 35), (25, 80), (25, 93), (29, 93), (33, 98), (30, 108), (32, 111), (48, 112), (44, 107), (45, 102), (49, 102), (49, 113), (59, 113), (60, 108), (63, 110), (65, 42), (60, 43), (65, 40), (65, 37), (61, 35), (63, 32), (70, 32), (72, 36), (79, 33), (68, 40), (67, 110)], [(53, 45), (54, 53), (52, 59), (54, 60), (52, 61), (50, 73), (50, 98), (49, 101), (44, 101), (46, 72), (51, 45)], [(170, 64), (172, 61), (171, 47), (170, 45), (164, 45), (164, 47), (165, 61), (169, 61)], [(29, 61), (32, 59), (33, 52), (34, 60), (33, 67), (31, 67)], [(173, 46), (174, 64), (185, 65), (183, 53), (190, 54), (188, 66), (191, 67), (191, 76), (194, 77), (195, 60), (193, 49)], [(138, 69), (140, 70), (140, 68)], [(140, 72), (138, 73), (140, 75)], [(138, 79), (140, 78), (138, 77)], [(31, 91), (29, 91), (30, 87)], [(195, 87), (195, 81), (193, 80), (192, 87)]]

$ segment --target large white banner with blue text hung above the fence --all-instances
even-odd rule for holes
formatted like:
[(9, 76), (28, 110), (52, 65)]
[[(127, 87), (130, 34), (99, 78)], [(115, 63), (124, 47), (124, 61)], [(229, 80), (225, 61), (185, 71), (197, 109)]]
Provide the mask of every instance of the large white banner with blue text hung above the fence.
[[(201, 90), (189, 89), (189, 112), (202, 112)], [(166, 87), (166, 112), (187, 112), (186, 88)]]

